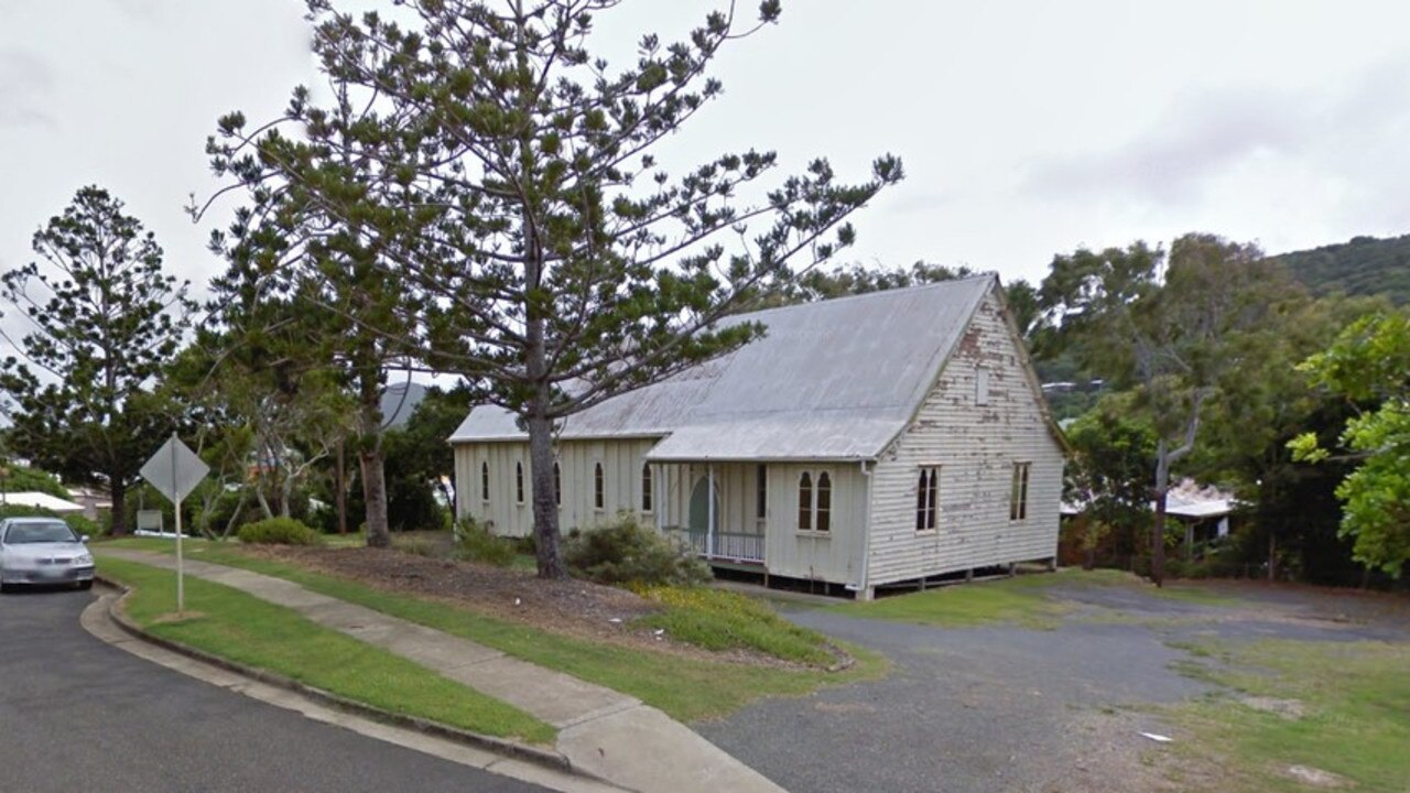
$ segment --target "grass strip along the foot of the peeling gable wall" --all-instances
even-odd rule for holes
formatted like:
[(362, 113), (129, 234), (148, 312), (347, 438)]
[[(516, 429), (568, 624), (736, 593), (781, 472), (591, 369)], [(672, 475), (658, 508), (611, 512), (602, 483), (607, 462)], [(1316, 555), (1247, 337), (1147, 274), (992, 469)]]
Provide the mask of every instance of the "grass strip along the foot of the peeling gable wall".
[(828, 611), (935, 628), (1011, 624), (1052, 629), (1062, 622), (1067, 612), (1063, 604), (1048, 598), (1048, 590), (1058, 586), (1138, 587), (1146, 595), (1166, 600), (1204, 605), (1238, 603), (1198, 587), (1173, 584), (1156, 588), (1120, 570), (1066, 569), (1058, 573), (1029, 573), (997, 581), (946, 586), (924, 593), (883, 597), (870, 603), (847, 603), (828, 607)]

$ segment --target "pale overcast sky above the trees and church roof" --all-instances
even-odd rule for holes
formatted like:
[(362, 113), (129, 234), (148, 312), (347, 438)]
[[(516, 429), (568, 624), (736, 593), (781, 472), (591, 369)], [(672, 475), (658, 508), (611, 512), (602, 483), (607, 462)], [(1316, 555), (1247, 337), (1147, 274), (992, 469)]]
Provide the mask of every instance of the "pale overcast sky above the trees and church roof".
[[(723, 1), (627, 0), (602, 47)], [(221, 113), (271, 119), (316, 82), (302, 1), (0, 0), (0, 270), (97, 183), (176, 272), (217, 272), (183, 206), (219, 186)], [(784, 0), (718, 75), (678, 154), (826, 155), (856, 178), (904, 158), (847, 261), (1039, 279), (1059, 251), (1191, 230), (1270, 253), (1410, 233), (1403, 1)]]

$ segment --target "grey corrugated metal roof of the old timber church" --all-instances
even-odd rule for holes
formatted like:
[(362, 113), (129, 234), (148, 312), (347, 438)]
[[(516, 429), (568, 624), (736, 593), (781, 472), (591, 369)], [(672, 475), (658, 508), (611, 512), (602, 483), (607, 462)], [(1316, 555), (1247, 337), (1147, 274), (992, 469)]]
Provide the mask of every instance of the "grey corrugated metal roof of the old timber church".
[[(664, 437), (651, 460), (871, 459), (905, 426), (993, 275), (742, 315), (761, 337), (570, 418), (564, 439)], [(522, 440), (471, 411), (451, 443)]]

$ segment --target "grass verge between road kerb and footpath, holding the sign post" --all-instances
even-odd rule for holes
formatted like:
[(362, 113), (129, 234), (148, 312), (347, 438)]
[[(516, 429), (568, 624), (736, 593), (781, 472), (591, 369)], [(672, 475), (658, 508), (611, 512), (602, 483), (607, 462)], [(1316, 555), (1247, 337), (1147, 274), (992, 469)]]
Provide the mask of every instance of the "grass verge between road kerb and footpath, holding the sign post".
[(472, 732), (530, 744), (551, 744), (557, 734), (512, 706), (238, 590), (188, 577), (189, 617), (176, 621), (175, 573), (118, 559), (103, 559), (102, 570), (134, 588), (128, 617), (165, 639)]

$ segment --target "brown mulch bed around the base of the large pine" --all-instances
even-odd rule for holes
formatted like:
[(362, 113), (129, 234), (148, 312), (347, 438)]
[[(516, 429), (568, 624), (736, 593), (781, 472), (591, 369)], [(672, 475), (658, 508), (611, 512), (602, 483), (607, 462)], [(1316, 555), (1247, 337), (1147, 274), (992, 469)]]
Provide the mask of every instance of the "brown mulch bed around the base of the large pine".
[(553, 634), (716, 662), (795, 667), (759, 652), (708, 652), (677, 642), (664, 631), (637, 624), (642, 617), (661, 611), (660, 604), (591, 581), (546, 581), (525, 570), (389, 549), (261, 546), (250, 550), (379, 590), (450, 603)]

